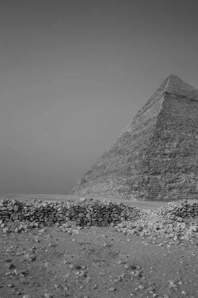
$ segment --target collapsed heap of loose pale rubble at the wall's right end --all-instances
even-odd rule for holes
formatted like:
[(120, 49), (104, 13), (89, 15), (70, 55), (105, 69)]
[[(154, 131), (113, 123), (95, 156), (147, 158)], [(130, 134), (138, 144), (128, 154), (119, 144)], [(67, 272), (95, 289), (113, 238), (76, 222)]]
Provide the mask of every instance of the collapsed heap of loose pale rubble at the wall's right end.
[[(184, 207), (190, 209), (191, 213), (190, 211), (186, 213), (187, 209)], [(114, 225), (114, 228), (118, 232), (136, 234), (141, 237), (165, 236), (165, 238), (173, 240), (169, 241), (169, 244), (179, 244), (180, 240), (190, 240), (190, 237), (198, 239), (197, 210), (198, 201), (196, 200), (170, 202), (165, 207), (153, 209), (149, 215), (148, 210), (141, 210), (138, 220), (123, 221)]]

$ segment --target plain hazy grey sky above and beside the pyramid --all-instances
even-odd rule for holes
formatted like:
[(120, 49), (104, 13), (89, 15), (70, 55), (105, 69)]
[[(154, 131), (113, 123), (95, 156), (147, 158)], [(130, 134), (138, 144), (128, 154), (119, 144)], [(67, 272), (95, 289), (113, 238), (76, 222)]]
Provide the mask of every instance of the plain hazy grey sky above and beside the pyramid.
[(68, 195), (169, 75), (198, 88), (197, 0), (0, 3), (0, 194)]

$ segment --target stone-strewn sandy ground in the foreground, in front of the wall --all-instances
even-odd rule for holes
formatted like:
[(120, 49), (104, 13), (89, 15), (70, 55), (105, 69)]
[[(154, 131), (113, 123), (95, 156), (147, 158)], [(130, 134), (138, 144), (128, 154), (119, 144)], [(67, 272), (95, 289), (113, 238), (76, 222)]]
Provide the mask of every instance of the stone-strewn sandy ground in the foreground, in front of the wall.
[(198, 298), (198, 239), (169, 245), (109, 227), (40, 230), (0, 229), (1, 298)]

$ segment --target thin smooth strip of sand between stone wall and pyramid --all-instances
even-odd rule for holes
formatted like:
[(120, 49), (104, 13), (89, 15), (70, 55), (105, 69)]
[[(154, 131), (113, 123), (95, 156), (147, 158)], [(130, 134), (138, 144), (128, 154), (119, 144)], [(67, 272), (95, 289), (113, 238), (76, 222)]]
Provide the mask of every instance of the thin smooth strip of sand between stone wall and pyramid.
[[(80, 198), (80, 196), (63, 196), (63, 195), (29, 195), (29, 194), (6, 194), (6, 195), (0, 195), (0, 200), (1, 199), (10, 199), (10, 200), (19, 200), (19, 201), (32, 201), (33, 199), (39, 199), (42, 201), (78, 201)], [(88, 198), (88, 197), (84, 197), (84, 198)], [(111, 202), (120, 202), (120, 203), (124, 203), (124, 204), (128, 204), (134, 207), (140, 207), (140, 208), (144, 208), (144, 209), (155, 209), (155, 208), (159, 208), (162, 206), (165, 206), (168, 204), (168, 202), (151, 202), (151, 201), (134, 201), (134, 200), (124, 200), (124, 199), (113, 199), (113, 198), (108, 198), (108, 197), (93, 197), (94, 200), (99, 200), (102, 201), (104, 199), (109, 200)]]

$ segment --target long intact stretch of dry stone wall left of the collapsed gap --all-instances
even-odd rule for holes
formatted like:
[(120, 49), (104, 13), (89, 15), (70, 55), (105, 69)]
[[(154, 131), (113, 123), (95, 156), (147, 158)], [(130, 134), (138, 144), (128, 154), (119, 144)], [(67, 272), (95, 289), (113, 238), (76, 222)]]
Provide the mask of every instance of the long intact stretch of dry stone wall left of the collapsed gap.
[(122, 203), (84, 201), (84, 202), (20, 202), (1, 200), (0, 221), (27, 222), (44, 225), (75, 222), (79, 226), (107, 226), (119, 224), (136, 218), (140, 210)]

